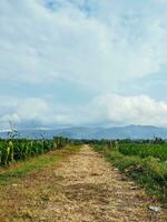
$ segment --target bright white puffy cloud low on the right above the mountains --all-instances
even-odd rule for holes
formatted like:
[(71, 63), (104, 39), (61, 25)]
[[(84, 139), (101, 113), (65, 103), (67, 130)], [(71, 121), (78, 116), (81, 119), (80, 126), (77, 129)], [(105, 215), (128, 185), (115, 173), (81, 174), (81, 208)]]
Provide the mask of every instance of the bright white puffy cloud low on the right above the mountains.
[(167, 125), (167, 102), (148, 95), (100, 95), (94, 100), (91, 109), (96, 121), (106, 120), (108, 124)]

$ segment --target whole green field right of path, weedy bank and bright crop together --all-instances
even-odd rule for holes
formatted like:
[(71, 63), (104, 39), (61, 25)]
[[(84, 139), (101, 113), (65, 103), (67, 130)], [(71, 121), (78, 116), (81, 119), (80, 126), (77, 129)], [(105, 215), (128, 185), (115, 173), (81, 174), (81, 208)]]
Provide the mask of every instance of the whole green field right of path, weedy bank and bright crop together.
[(108, 161), (167, 204), (167, 144), (146, 141), (101, 141), (94, 144)]

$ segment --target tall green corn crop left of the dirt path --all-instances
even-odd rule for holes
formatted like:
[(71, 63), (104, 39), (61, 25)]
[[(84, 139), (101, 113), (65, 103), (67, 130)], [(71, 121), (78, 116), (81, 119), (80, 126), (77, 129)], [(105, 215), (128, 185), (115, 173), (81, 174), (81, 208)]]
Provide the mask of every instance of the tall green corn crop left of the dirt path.
[(55, 149), (60, 149), (69, 143), (66, 138), (53, 138), (53, 140), (1, 140), (0, 141), (0, 165), (9, 165), (18, 160), (27, 160), (43, 154)]

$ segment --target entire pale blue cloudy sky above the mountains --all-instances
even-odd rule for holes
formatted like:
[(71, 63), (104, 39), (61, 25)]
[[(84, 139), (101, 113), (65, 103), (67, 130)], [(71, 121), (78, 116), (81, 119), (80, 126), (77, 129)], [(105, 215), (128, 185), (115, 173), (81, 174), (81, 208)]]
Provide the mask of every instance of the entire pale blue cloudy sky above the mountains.
[(0, 0), (0, 130), (167, 127), (167, 0)]

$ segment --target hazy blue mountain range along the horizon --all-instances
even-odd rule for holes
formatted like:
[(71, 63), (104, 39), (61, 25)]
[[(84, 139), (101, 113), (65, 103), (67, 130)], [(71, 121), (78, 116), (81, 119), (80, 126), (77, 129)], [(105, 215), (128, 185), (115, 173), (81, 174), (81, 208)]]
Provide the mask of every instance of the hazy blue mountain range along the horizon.
[[(51, 139), (62, 135), (71, 139), (167, 139), (167, 128), (153, 125), (126, 125), (112, 128), (66, 128), (57, 130), (20, 130), (19, 138)], [(0, 138), (8, 138), (8, 132), (0, 132)]]

